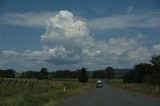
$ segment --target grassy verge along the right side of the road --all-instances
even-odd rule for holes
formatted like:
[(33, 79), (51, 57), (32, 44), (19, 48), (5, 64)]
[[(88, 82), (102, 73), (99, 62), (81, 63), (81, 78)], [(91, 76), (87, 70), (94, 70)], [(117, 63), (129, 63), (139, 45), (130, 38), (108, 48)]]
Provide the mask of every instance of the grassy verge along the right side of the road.
[(127, 91), (142, 95), (152, 96), (160, 99), (160, 86), (150, 84), (125, 84), (122, 80), (113, 79), (109, 81), (111, 86), (115, 86)]

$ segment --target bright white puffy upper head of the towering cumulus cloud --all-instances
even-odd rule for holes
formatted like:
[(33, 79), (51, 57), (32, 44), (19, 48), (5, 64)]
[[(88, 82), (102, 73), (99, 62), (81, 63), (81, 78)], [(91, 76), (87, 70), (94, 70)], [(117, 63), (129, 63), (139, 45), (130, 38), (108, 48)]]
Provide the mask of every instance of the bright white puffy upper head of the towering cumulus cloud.
[(83, 42), (91, 41), (86, 23), (77, 20), (69, 11), (60, 11), (47, 21), (47, 31), (42, 41), (49, 47), (61, 45), (65, 47), (83, 46)]

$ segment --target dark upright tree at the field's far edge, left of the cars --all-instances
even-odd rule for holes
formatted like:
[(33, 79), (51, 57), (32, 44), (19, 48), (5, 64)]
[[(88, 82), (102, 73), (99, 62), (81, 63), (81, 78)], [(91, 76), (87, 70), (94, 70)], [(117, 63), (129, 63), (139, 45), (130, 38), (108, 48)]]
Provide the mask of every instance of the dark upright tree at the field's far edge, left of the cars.
[(78, 70), (79, 72), (79, 82), (85, 83), (88, 82), (88, 73), (86, 68)]

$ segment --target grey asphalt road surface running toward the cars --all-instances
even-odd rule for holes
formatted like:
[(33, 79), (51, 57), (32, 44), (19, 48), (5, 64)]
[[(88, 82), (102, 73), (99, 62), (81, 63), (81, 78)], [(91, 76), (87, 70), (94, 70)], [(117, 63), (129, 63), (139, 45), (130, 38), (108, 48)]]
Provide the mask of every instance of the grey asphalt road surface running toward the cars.
[(73, 97), (59, 106), (160, 106), (160, 100), (105, 85)]

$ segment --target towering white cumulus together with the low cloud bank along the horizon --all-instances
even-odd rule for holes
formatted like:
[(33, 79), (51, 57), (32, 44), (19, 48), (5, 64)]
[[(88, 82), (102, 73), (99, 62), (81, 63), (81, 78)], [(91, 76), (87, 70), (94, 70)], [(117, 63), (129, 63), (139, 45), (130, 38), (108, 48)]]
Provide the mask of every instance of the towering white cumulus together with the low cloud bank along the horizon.
[[(26, 65), (23, 67), (79, 68), (99, 69), (106, 66), (115, 68), (131, 67), (136, 63), (147, 62), (151, 50), (159, 53), (160, 45), (147, 48), (141, 33), (97, 41), (89, 33), (87, 22), (80, 20), (71, 12), (59, 11), (46, 20), (46, 31), (41, 35), (42, 50), (25, 50), (18, 53), (4, 50), (0, 59)], [(106, 24), (107, 26), (108, 24)], [(90, 27), (89, 27), (90, 28)], [(107, 36), (107, 35), (106, 35)], [(8, 58), (8, 57), (12, 58)], [(14, 57), (14, 58), (13, 58)], [(12, 60), (11, 60), (12, 59)], [(0, 63), (0, 64), (4, 64)], [(15, 64), (14, 64), (15, 65)]]

